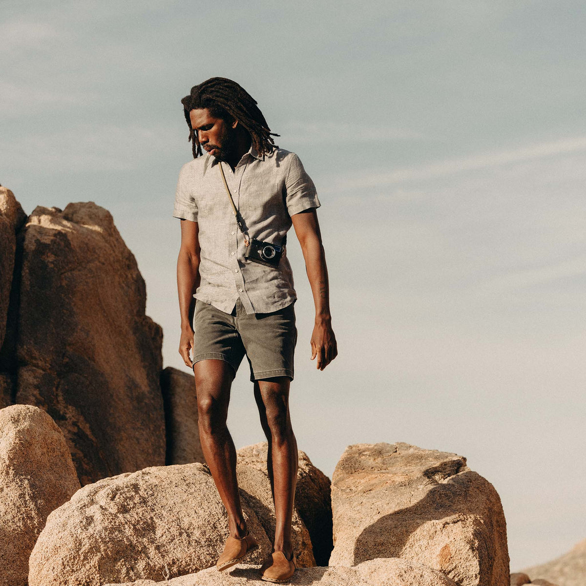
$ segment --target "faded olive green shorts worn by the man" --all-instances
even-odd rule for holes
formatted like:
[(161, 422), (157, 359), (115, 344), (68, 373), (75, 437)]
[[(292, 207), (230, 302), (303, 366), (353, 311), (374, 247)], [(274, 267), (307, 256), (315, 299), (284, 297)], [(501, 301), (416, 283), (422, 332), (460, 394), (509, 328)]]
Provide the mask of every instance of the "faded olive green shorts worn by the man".
[(275, 376), (293, 380), (294, 302), (269, 314), (247, 314), (237, 299), (232, 313), (226, 314), (196, 299), (193, 332), (193, 364), (209, 358), (224, 360), (236, 376), (246, 355), (251, 381)]

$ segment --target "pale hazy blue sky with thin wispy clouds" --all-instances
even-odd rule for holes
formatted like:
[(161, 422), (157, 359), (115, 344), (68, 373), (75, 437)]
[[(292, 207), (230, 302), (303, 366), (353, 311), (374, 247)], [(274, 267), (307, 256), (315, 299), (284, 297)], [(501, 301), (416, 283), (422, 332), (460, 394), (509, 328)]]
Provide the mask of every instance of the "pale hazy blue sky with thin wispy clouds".
[[(289, 233), (291, 418), (332, 476), (347, 445), (456, 452), (498, 490), (512, 571), (586, 537), (583, 2), (2, 1), (0, 183), (27, 213), (110, 210), (179, 357), (180, 99), (258, 101), (318, 189), (338, 357)], [(246, 367), (246, 368), (245, 368)], [(237, 447), (264, 441), (246, 360)]]

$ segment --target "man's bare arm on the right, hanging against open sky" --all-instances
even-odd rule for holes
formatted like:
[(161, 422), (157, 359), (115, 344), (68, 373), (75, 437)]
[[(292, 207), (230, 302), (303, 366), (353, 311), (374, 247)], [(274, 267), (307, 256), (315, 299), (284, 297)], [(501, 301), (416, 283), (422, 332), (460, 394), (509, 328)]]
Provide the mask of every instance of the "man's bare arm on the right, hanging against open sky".
[(317, 367), (323, 370), (338, 355), (338, 345), (332, 330), (328, 268), (319, 231), (318, 214), (314, 207), (310, 207), (291, 216), (291, 221), (301, 244), (307, 278), (314, 294), (315, 326), (311, 336), (311, 359), (317, 357)]

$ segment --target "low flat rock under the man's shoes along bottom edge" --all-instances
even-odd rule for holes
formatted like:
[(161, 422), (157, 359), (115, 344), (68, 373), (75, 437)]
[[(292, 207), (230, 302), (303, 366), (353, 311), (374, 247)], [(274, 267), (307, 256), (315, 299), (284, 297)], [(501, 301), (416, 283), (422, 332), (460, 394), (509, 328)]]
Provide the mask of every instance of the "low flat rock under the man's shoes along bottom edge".
[[(239, 564), (219, 572), (208, 568), (196, 574), (173, 578), (166, 582), (139, 580), (126, 584), (105, 584), (105, 586), (237, 586), (253, 583), (264, 584), (258, 574), (258, 565)], [(352, 568), (342, 566), (299, 568), (287, 584), (319, 584), (320, 586), (457, 586), (444, 574), (424, 565), (405, 560), (377, 559), (364, 561)]]

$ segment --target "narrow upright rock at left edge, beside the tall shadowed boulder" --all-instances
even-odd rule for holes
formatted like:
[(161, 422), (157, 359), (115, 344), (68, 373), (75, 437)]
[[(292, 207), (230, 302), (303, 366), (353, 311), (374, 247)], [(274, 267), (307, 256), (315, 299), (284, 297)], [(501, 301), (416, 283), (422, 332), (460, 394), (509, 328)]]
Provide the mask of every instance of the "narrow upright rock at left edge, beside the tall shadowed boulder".
[[(15, 294), (12, 287), (13, 270), (16, 259), (16, 233), (25, 222), (26, 214), (16, 201), (11, 190), (0, 187), (0, 408), (12, 404), (15, 368), (13, 355), (13, 332), (8, 322), (11, 296)], [(11, 335), (12, 334), (12, 335)], [(4, 346), (5, 338), (6, 347)]]

